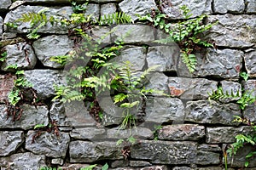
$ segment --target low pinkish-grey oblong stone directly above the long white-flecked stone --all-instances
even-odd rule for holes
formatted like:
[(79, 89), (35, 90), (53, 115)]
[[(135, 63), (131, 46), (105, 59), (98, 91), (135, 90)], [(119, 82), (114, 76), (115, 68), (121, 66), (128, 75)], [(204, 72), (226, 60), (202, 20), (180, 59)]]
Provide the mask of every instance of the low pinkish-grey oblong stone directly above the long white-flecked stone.
[(205, 136), (205, 127), (193, 124), (173, 124), (158, 131), (158, 139), (199, 140)]

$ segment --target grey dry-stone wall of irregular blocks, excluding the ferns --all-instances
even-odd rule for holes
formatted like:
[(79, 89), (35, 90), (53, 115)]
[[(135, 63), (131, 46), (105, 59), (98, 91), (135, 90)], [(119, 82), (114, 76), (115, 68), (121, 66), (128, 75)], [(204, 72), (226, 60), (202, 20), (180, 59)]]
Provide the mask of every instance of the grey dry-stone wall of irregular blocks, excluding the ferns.
[[(81, 1), (79, 1), (81, 2)], [(124, 42), (127, 47), (120, 59), (130, 60), (134, 69), (142, 70), (151, 65), (160, 65), (150, 75), (151, 88), (172, 94), (166, 98), (155, 94), (147, 100), (145, 122), (136, 129), (118, 130), (119, 108), (109, 104), (102, 97), (106, 109), (104, 121), (98, 124), (89, 115), (83, 103), (62, 104), (51, 101), (55, 96), (55, 84), (61, 80), (63, 68), (49, 60), (52, 56), (67, 54), (73, 49), (73, 41), (67, 36), (67, 28), (44, 26), (36, 41), (22, 39), (30, 26), (20, 24), (17, 30), (10, 31), (3, 26), (27, 12), (38, 12), (48, 7), (48, 15), (66, 16), (73, 13), (68, 0), (1, 0), (0, 3), (0, 47), (7, 51), (7, 59), (1, 65), (0, 76), (0, 169), (38, 169), (51, 166), (62, 169), (79, 169), (108, 163), (109, 169), (223, 169), (222, 149), (235, 142), (235, 135), (247, 132), (248, 127), (232, 122), (234, 116), (246, 116), (256, 121), (256, 106), (249, 105), (241, 111), (232, 99), (223, 103), (209, 101), (208, 93), (218, 86), (224, 92), (241, 92), (242, 89), (256, 90), (256, 1), (255, 0), (173, 0), (172, 6), (165, 8), (166, 14), (175, 19), (173, 11), (186, 4), (194, 16), (209, 14), (207, 22), (218, 20), (206, 37), (215, 41), (217, 49), (207, 48), (197, 54), (198, 65), (193, 75), (180, 63), (177, 46), (154, 46), (153, 41), (160, 37), (152, 27), (138, 22), (129, 26), (97, 27), (92, 31), (96, 36), (111, 31), (104, 41), (113, 40), (130, 31)], [(86, 14), (99, 17), (123, 11), (137, 20), (136, 14), (147, 14), (157, 8), (153, 0), (92, 0)], [(147, 44), (145, 47), (142, 44)], [(29, 62), (28, 62), (29, 60)], [(9, 91), (14, 87), (15, 74), (5, 69), (16, 64), (25, 70), (25, 77), (32, 82), (39, 99), (44, 105), (35, 108), (22, 105), (23, 114), (19, 121), (7, 117), (6, 105)], [(239, 74), (247, 71), (249, 80), (242, 81)], [(105, 111), (105, 110), (104, 110)], [(37, 132), (37, 124), (47, 125), (55, 120), (60, 136), (42, 133), (32, 142)], [(154, 131), (154, 125), (163, 127)], [(120, 132), (121, 131), (121, 132)], [(128, 159), (121, 154), (122, 148), (116, 145), (118, 139), (125, 139), (130, 133), (137, 136), (131, 146)], [(154, 140), (154, 135), (158, 140)], [(229, 169), (243, 167), (249, 146), (239, 150), (235, 157), (229, 157)], [(256, 159), (250, 161), (256, 168)]]

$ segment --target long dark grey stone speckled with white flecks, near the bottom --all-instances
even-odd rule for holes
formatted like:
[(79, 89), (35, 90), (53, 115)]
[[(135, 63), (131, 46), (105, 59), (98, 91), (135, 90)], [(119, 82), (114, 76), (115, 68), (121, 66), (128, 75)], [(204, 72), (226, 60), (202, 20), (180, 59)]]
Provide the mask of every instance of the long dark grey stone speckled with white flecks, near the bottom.
[(131, 158), (161, 164), (218, 164), (218, 154), (197, 150), (194, 142), (141, 141), (131, 147)]

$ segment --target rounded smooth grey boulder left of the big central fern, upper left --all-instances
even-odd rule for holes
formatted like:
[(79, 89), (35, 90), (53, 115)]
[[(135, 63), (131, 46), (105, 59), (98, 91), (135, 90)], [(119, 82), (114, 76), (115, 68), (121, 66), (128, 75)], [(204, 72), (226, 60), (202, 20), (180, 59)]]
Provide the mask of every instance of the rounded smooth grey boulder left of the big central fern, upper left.
[(73, 41), (66, 35), (53, 35), (43, 37), (33, 42), (33, 48), (35, 49), (38, 59), (44, 66), (61, 68), (63, 65), (55, 61), (51, 61), (50, 58), (68, 54), (68, 52), (73, 50)]

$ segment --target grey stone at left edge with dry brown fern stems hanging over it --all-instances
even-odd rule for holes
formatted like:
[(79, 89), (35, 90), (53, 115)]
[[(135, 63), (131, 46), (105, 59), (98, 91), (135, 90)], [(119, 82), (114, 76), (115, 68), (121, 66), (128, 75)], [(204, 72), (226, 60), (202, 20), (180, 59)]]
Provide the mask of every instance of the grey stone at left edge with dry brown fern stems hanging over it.
[(26, 42), (5, 46), (7, 52), (6, 59), (3, 61), (1, 69), (3, 71), (13, 71), (7, 69), (9, 65), (17, 65), (17, 70), (33, 69), (37, 64), (37, 58), (32, 46)]

